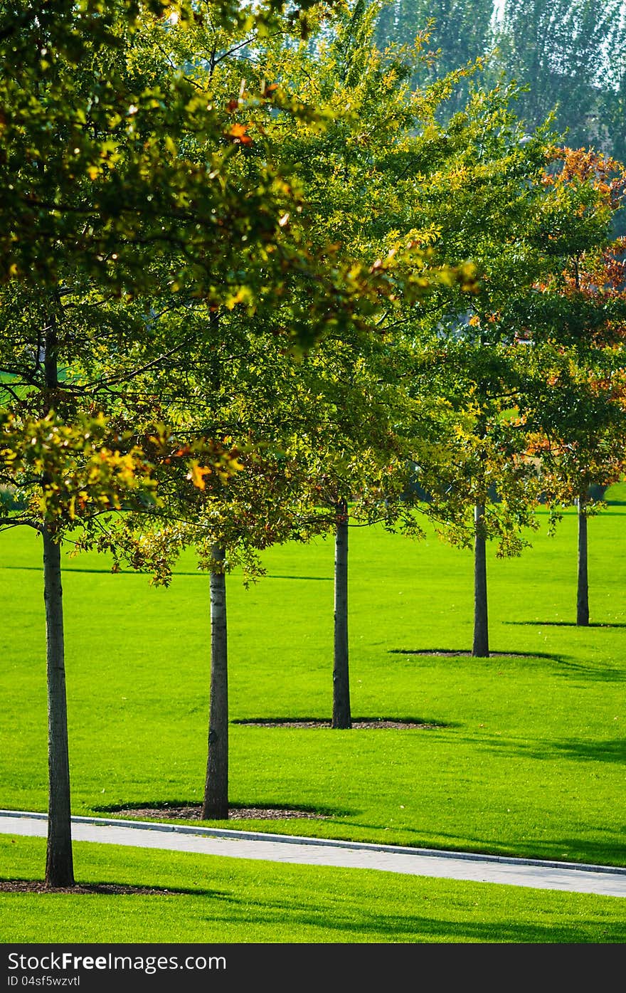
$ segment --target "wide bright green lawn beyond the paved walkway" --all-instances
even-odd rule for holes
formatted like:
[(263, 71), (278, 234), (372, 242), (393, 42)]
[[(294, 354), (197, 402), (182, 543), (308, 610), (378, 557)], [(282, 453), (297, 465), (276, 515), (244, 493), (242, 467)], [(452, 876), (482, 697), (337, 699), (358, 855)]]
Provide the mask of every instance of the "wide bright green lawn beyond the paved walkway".
[[(488, 659), (437, 654), (471, 645), (469, 551), (435, 535), (415, 542), (353, 529), (353, 717), (439, 726), (333, 731), (232, 723), (234, 805), (327, 816), (230, 826), (626, 865), (625, 527), (619, 505), (589, 523), (587, 629), (572, 623), (573, 510), (554, 537), (542, 518), (519, 559), (498, 560), (490, 549), (491, 649), (498, 654)], [(0, 805), (43, 811), (40, 556), (41, 543), (26, 529), (0, 535)], [(265, 554), (268, 576), (256, 586), (246, 590), (237, 575), (228, 578), (231, 721), (329, 718), (332, 559), (330, 540), (277, 547)], [(111, 575), (106, 560), (82, 555), (66, 561), (63, 594), (73, 812), (199, 802), (207, 577), (190, 553), (169, 589), (142, 575)]]

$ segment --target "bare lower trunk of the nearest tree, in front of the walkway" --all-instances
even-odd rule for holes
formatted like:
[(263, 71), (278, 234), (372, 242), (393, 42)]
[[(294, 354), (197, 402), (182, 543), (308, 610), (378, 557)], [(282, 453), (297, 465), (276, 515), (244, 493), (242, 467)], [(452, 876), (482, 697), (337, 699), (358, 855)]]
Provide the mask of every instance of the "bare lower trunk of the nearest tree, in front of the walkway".
[(48, 666), (49, 804), (46, 886), (65, 887), (73, 886), (74, 878), (69, 802), (61, 545), (53, 541), (50, 530), (45, 525), (42, 534)]

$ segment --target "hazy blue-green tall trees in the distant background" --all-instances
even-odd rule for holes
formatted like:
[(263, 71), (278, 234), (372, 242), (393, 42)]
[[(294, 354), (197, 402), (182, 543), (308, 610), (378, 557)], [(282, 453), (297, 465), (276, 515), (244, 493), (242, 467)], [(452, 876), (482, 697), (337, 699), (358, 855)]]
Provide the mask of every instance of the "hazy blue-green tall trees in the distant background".
[[(416, 70), (423, 84), (441, 69), (479, 62), (487, 84), (515, 79), (518, 115), (532, 130), (555, 112), (572, 147), (592, 145), (622, 160), (626, 93), (626, 7), (623, 0), (392, 0), (376, 24), (381, 48), (412, 44), (431, 25), (438, 58)], [(462, 108), (467, 86), (441, 108)]]

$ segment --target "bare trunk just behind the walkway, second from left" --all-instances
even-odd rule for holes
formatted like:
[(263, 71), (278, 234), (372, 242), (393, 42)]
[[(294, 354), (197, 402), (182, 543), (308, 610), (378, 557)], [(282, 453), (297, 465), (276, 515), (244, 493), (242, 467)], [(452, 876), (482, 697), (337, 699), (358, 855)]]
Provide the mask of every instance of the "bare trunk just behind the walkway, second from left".
[[(211, 556), (223, 562), (226, 551), (213, 545)], [(211, 674), (208, 756), (202, 820), (228, 818), (228, 664), (226, 655), (226, 577), (210, 574)]]

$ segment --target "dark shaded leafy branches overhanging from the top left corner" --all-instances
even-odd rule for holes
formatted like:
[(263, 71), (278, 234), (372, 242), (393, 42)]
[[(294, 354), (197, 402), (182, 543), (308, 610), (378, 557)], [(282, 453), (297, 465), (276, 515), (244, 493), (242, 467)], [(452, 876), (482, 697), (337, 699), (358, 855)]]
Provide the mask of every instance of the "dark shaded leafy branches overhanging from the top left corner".
[(423, 259), (406, 243), (369, 265), (313, 245), (298, 176), (266, 137), (276, 115), (323, 129), (314, 104), (246, 78), (246, 56), (311, 6), (262, 4), (252, 21), (252, 8), (219, 3), (0, 10), (0, 278), (55, 287), (69, 265), (125, 297), (289, 299), (306, 342), (382, 295), (422, 292)]

